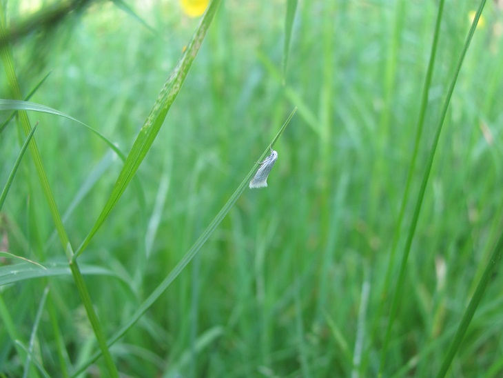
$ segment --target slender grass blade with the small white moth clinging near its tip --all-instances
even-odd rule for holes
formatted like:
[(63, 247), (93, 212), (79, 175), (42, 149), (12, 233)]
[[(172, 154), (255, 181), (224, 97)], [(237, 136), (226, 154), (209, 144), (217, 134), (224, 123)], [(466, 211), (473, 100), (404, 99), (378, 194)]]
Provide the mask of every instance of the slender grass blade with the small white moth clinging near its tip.
[[(280, 128), (278, 131), (278, 134), (276, 134), (276, 137), (271, 141), (269, 146), (265, 149), (263, 154), (260, 156), (260, 159), (257, 161), (263, 161), (263, 159), (269, 154), (269, 149), (274, 147), (274, 144), (278, 140), (278, 138), (283, 134), (285, 131), (285, 128), (288, 126), (288, 123), (290, 122), (291, 118), (294, 117), (295, 112), (297, 111), (297, 108), (294, 108), (294, 110), (290, 113), (288, 119), (283, 123), (283, 126)], [(223, 206), (222, 210), (218, 212), (216, 217), (214, 217), (212, 223), (209, 223), (209, 226), (203, 231), (201, 236), (196, 240), (194, 245), (188, 250), (188, 252), (183, 256), (183, 258), (180, 260), (178, 264), (173, 268), (173, 270), (170, 272), (169, 275), (157, 286), (157, 288), (152, 292), (152, 294), (149, 295), (145, 301), (143, 301), (143, 304), (138, 307), (138, 310), (134, 312), (133, 316), (127, 323), (122, 326), (115, 334), (110, 338), (108, 341), (108, 346), (112, 346), (117, 340), (119, 340), (123, 335), (125, 335), (125, 332), (129, 330), (138, 319), (140, 319), (143, 314), (154, 304), (154, 302), (161, 297), (163, 292), (172, 284), (172, 282), (180, 275), (180, 273), (185, 269), (185, 267), (189, 264), (192, 259), (196, 256), (197, 252), (201, 249), (201, 247), (204, 245), (204, 243), (207, 241), (207, 239), (212, 235), (216, 227), (220, 224), (220, 222), (224, 219), (225, 215), (227, 215), (227, 212), (231, 210), (232, 206), (234, 206), (234, 203), (238, 200), (240, 195), (243, 193), (243, 191), (247, 188), (249, 180), (251, 177), (255, 174), (256, 169), (258, 168), (259, 163), (256, 162), (251, 168), (251, 170), (248, 172), (248, 175), (246, 175), (245, 179), (241, 181), (240, 185), (234, 191), (233, 195), (229, 198), (227, 203), (225, 203), (225, 206)], [(73, 373), (72, 377), (76, 377), (76, 375), (81, 374), (90, 364), (92, 364), (96, 359), (98, 359), (101, 355), (101, 352), (98, 352), (94, 354), (91, 359), (89, 359), (85, 364), (82, 366), (79, 366), (77, 370)]]

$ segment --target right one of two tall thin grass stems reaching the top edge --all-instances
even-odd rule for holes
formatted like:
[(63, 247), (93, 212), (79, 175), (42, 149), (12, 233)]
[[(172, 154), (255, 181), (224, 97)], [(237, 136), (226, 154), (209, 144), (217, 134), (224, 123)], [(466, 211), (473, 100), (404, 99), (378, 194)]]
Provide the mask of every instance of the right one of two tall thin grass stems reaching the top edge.
[(442, 107), (442, 112), (440, 113), (440, 119), (438, 121), (438, 126), (435, 131), (433, 141), (431, 143), (431, 148), (430, 148), (429, 155), (428, 155), (427, 165), (424, 170), (423, 177), (422, 177), (421, 186), (420, 186), (420, 189), (418, 192), (418, 198), (415, 200), (415, 206), (414, 206), (414, 211), (413, 211), (413, 215), (412, 215), (412, 219), (411, 219), (411, 225), (409, 227), (409, 232), (407, 233), (407, 241), (405, 242), (404, 252), (402, 255), (402, 261), (400, 263), (400, 272), (399, 272), (398, 280), (396, 281), (396, 290), (393, 294), (393, 299), (391, 301), (391, 311), (389, 314), (389, 320), (388, 320), (388, 324), (387, 324), (387, 328), (386, 328), (386, 335), (384, 336), (384, 343), (382, 345), (381, 361), (380, 361), (380, 367), (379, 367), (379, 376), (380, 377), (382, 377), (382, 373), (384, 370), (384, 364), (386, 361), (389, 339), (391, 337), (391, 328), (393, 328), (393, 321), (395, 320), (396, 312), (398, 310), (398, 305), (399, 305), (400, 299), (402, 297), (402, 288), (403, 288), (403, 282), (404, 282), (404, 278), (405, 278), (405, 271), (407, 270), (407, 260), (409, 259), (409, 254), (411, 252), (411, 245), (412, 245), (412, 241), (413, 241), (413, 238), (415, 235), (415, 228), (418, 225), (418, 219), (419, 219), (419, 215), (420, 215), (421, 208), (422, 208), (422, 201), (424, 199), (424, 192), (426, 192), (426, 187), (428, 184), (429, 175), (431, 172), (431, 167), (433, 166), (433, 159), (435, 159), (435, 152), (437, 150), (438, 141), (440, 139), (440, 134), (442, 132), (442, 126), (444, 124), (447, 110), (449, 109), (449, 103), (451, 102), (451, 97), (454, 92), (456, 82), (458, 81), (458, 77), (460, 75), (460, 71), (461, 71), (463, 61), (464, 61), (464, 57), (466, 56), (466, 51), (468, 51), (468, 48), (470, 46), (470, 42), (473, 37), (473, 33), (475, 32), (475, 28), (477, 27), (477, 23), (478, 23), (478, 20), (480, 19), (480, 14), (482, 14), (482, 10), (484, 9), (485, 3), (486, 3), (486, 0), (482, 0), (480, 2), (480, 6), (477, 10), (477, 14), (475, 14), (475, 17), (473, 18), (473, 23), (471, 24), (471, 28), (469, 30), (468, 36), (466, 37), (466, 41), (464, 42), (463, 50), (460, 54), (460, 59), (458, 60), (458, 65), (456, 66), (456, 69), (455, 69), (455, 72), (453, 75), (453, 79), (451, 81), (451, 84), (449, 85), (449, 90), (447, 90), (444, 106)]

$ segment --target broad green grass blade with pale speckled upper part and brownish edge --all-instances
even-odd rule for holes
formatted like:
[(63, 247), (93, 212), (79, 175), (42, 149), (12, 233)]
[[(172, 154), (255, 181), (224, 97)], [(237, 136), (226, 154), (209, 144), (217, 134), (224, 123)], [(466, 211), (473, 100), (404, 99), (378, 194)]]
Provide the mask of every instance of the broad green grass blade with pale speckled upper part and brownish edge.
[(136, 137), (136, 140), (134, 141), (129, 155), (127, 155), (121, 173), (119, 173), (119, 177), (117, 178), (114, 188), (112, 188), (112, 193), (110, 194), (107, 203), (105, 203), (105, 207), (96, 220), (96, 223), (94, 223), (92, 230), (76, 251), (73, 257), (74, 260), (79, 257), (83, 250), (85, 250), (85, 247), (88, 246), (96, 231), (99, 230), (105, 219), (107, 219), (108, 215), (110, 215), (110, 212), (115, 207), (117, 201), (119, 201), (122, 197), (123, 192), (136, 174), (136, 170), (138, 170), (141, 162), (145, 159), (145, 156), (147, 155), (148, 150), (150, 150), (152, 143), (154, 143), (159, 130), (161, 130), (161, 126), (163, 125), (167, 112), (170, 110), (174, 100), (181, 90), (183, 81), (185, 81), (185, 77), (187, 77), (187, 73), (196, 58), (199, 48), (201, 48), (201, 43), (203, 43), (207, 30), (212, 23), (218, 6), (220, 5), (220, 1), (221, 0), (213, 0), (209, 4), (187, 50), (185, 50), (181, 59), (178, 61), (176, 68), (167, 79), (161, 93), (159, 93), (156, 102), (154, 103), (154, 107), (150, 110), (138, 137)]

